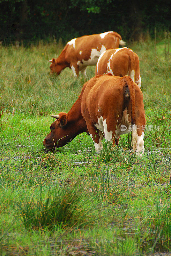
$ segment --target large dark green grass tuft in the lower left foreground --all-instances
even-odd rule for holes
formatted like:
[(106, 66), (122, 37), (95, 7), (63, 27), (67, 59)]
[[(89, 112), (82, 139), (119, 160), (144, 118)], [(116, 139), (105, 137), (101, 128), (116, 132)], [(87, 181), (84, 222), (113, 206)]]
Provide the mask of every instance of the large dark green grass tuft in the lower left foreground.
[(25, 228), (54, 231), (55, 228), (80, 228), (95, 222), (92, 198), (79, 184), (58, 186), (48, 193), (43, 192), (30, 198), (21, 195), (17, 203), (20, 218)]

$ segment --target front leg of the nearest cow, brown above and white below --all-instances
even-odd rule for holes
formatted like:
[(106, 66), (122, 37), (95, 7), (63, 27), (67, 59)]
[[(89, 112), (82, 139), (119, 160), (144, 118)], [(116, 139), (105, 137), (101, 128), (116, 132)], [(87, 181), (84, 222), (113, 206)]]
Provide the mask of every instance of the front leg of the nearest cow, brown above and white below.
[(102, 136), (99, 134), (99, 130), (96, 127), (94, 127), (93, 124), (87, 125), (87, 129), (94, 142), (94, 147), (97, 154), (100, 154), (102, 150)]

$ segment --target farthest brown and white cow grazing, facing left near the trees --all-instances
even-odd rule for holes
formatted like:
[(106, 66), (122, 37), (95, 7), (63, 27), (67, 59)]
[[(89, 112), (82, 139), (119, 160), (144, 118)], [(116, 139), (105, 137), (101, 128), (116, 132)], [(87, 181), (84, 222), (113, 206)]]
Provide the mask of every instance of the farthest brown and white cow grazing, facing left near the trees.
[(81, 36), (68, 42), (57, 59), (49, 60), (51, 73), (57, 75), (69, 67), (74, 76), (78, 76), (79, 71), (86, 76), (87, 66), (96, 65), (102, 52), (109, 48), (118, 48), (124, 45), (122, 37), (113, 31), (95, 34), (90, 36)]

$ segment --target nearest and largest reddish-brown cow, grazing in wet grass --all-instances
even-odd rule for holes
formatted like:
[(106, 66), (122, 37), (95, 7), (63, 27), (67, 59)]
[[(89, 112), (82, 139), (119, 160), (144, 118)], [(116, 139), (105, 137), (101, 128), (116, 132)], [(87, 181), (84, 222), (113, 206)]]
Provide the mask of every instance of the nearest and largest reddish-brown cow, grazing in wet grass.
[(132, 130), (134, 151), (138, 156), (144, 154), (143, 94), (130, 76), (106, 74), (91, 78), (68, 114), (62, 112), (52, 117), (56, 120), (43, 140), (49, 150), (62, 147), (79, 133), (87, 132), (100, 153), (103, 138), (113, 140), (115, 145), (121, 134)]

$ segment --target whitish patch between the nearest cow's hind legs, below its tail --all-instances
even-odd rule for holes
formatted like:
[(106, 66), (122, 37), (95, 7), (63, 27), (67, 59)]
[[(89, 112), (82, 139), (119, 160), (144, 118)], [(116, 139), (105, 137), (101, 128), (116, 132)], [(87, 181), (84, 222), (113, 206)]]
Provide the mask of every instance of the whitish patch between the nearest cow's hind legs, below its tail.
[(130, 125), (131, 123), (128, 121), (128, 111), (127, 108), (123, 111), (123, 117), (121, 120), (121, 123), (118, 124), (116, 132), (115, 132), (115, 138), (118, 139), (122, 134), (126, 134), (131, 132)]

